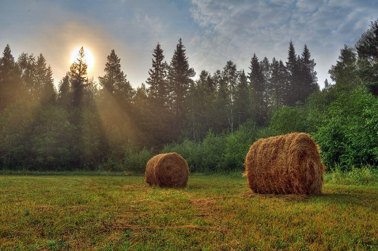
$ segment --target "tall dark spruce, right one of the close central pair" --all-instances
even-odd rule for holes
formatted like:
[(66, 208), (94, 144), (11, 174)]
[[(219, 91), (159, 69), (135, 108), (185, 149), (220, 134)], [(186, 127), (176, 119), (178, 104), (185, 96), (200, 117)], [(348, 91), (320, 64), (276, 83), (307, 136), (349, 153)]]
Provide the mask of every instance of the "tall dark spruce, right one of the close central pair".
[(184, 116), (184, 101), (193, 83), (192, 77), (195, 76), (193, 68), (189, 68), (188, 58), (185, 53), (185, 46), (181, 38), (178, 40), (169, 67), (169, 91), (171, 92), (172, 103), (174, 105), (176, 124), (180, 125)]

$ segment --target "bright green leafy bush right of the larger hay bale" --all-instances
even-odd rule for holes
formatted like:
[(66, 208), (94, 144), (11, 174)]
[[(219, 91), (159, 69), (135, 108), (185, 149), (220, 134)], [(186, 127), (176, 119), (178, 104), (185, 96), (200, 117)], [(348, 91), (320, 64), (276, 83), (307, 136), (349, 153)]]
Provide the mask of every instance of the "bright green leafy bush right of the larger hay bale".
[(329, 118), (315, 134), (324, 164), (378, 164), (378, 100), (359, 87), (339, 93), (328, 108)]

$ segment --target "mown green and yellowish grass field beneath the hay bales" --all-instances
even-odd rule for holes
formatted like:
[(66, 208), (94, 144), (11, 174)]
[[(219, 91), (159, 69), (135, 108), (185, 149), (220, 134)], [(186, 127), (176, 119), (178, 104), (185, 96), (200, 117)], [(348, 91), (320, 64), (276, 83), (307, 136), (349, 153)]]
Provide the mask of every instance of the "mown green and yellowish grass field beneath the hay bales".
[(242, 177), (0, 176), (0, 250), (377, 250), (378, 186), (254, 195)]

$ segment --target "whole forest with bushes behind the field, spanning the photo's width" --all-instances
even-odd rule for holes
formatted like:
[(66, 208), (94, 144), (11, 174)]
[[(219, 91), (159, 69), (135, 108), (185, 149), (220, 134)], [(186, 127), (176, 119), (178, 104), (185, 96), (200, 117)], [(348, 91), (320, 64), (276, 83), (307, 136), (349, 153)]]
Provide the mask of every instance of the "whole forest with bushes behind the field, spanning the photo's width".
[[(287, 59), (251, 55), (198, 79), (181, 39), (167, 59), (157, 43), (149, 77), (132, 88), (112, 50), (98, 79), (85, 48), (59, 81), (42, 54), (0, 58), (0, 169), (143, 172), (177, 152), (191, 172), (243, 170), (261, 137), (307, 132), (327, 170), (378, 164), (378, 21), (344, 45), (320, 90), (307, 45)], [(168, 60), (168, 62), (167, 62)]]

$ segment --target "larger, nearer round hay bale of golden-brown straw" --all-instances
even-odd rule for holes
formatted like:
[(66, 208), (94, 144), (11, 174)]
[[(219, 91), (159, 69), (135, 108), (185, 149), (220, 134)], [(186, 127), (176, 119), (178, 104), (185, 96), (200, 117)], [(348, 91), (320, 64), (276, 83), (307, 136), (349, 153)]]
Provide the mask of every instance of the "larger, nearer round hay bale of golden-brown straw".
[(320, 194), (324, 165), (307, 133), (259, 139), (245, 158), (248, 187), (261, 194)]

